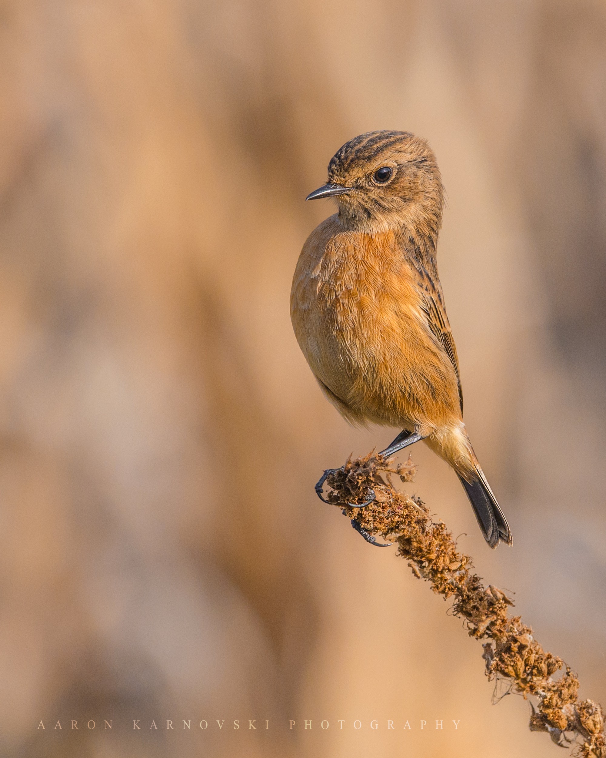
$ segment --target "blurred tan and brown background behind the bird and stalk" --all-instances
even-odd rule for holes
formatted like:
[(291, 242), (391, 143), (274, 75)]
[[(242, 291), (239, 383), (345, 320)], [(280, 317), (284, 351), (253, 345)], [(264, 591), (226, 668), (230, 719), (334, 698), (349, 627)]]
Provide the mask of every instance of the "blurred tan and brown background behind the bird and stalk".
[(604, 3), (5, 0), (0, 35), (2, 755), (558, 753), (521, 697), (491, 704), (447, 604), (317, 500), (395, 430), (323, 399), (289, 290), (336, 149), (429, 139), (514, 547), (423, 446), (408, 488), (606, 704)]

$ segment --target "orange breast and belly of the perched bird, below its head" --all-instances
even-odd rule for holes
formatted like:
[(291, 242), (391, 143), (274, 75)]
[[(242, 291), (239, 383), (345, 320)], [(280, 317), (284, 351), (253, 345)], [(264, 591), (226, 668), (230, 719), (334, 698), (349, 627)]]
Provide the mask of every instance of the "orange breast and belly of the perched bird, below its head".
[(461, 418), (457, 377), (426, 324), (416, 281), (391, 231), (345, 230), (335, 215), (303, 246), (292, 325), (350, 420), (429, 430)]

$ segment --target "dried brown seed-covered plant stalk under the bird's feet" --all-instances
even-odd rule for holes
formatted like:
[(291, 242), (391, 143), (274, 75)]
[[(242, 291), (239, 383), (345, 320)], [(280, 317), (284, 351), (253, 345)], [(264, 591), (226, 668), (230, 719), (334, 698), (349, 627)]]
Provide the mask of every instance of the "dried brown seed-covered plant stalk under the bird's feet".
[[(454, 615), (464, 619), (470, 637), (488, 640), (483, 658), (489, 679), (506, 680), (512, 692), (536, 698), (529, 723), (532, 731), (547, 731), (561, 747), (574, 743), (576, 756), (606, 758), (601, 706), (578, 700), (576, 675), (558, 656), (543, 650), (520, 616), (508, 614), (513, 601), (492, 584), (484, 587), (473, 572), (471, 557), (457, 550), (451, 532), (430, 517), (420, 498), (393, 487), (392, 474), (401, 481), (414, 481), (416, 468), (410, 458), (395, 468), (372, 453), (350, 459), (326, 478), (327, 500), (369, 534), (397, 544), (398, 556), (408, 560), (417, 578), (430, 582), (437, 594), (453, 598)], [(376, 500), (369, 506), (349, 505), (364, 503), (371, 489)], [(561, 669), (564, 672), (554, 678)]]

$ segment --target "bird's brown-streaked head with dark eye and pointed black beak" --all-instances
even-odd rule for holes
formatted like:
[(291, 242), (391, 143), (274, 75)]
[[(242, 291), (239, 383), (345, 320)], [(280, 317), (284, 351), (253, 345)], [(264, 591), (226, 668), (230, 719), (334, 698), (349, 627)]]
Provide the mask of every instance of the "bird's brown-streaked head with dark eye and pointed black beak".
[(408, 132), (378, 131), (345, 143), (328, 164), (328, 181), (308, 200), (335, 197), (351, 229), (375, 233), (415, 227), (437, 235), (444, 190), (436, 156)]

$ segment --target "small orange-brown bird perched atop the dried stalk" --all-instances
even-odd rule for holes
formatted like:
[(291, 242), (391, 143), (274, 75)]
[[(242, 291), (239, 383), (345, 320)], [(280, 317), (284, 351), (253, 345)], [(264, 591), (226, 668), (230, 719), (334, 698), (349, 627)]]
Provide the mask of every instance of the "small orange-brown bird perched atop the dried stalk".
[(339, 212), (308, 236), (291, 292), (311, 371), (351, 423), (402, 430), (383, 456), (424, 440), (457, 472), (490, 547), (511, 545), (463, 423), (436, 264), (444, 190), (435, 155), (408, 132), (361, 134), (336, 152), (328, 181), (307, 199), (323, 197)]

